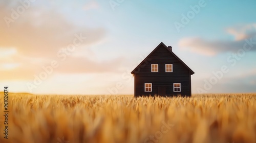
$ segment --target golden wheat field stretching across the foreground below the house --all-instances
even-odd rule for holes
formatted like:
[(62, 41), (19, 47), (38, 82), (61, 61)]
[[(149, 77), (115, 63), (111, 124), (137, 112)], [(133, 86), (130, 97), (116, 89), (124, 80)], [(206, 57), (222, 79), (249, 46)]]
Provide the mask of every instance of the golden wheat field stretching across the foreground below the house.
[[(256, 94), (191, 98), (10, 93), (0, 142), (256, 142)], [(0, 99), (4, 114), (4, 98)]]

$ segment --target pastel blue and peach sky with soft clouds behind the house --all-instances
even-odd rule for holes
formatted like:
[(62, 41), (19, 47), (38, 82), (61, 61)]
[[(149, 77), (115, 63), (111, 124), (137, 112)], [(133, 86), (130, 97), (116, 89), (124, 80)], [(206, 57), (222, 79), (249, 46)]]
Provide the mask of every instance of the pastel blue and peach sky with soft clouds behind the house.
[(0, 88), (133, 94), (131, 71), (163, 42), (193, 93), (256, 92), (256, 1), (1, 1)]

